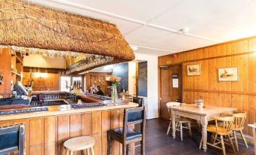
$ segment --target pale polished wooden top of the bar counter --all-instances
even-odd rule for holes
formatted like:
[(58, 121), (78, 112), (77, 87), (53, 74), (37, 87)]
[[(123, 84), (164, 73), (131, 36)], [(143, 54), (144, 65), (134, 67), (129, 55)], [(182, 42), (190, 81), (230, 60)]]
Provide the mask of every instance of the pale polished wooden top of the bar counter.
[[(106, 106), (92, 107), (92, 108), (72, 108), (71, 105), (52, 105), (52, 106), (44, 106), (44, 107), (33, 107), (33, 108), (48, 108), (48, 111), (39, 111), (39, 112), (23, 113), (23, 114), (3, 114), (3, 115), (0, 115), (0, 121), (26, 119), (26, 118), (32, 118), (32, 117), (48, 117), (48, 116), (56, 116), (56, 115), (63, 115), (63, 114), (79, 114), (79, 113), (85, 113), (85, 112), (106, 111), (106, 110), (113, 110), (113, 109), (120, 109), (120, 108), (135, 108), (138, 106), (134, 102), (128, 102), (124, 100), (118, 100), (118, 102), (114, 104), (111, 102), (111, 100), (102, 101), (100, 99), (95, 99), (94, 98), (95, 96), (97, 95), (79, 95), (81, 99), (87, 99), (91, 101), (91, 103), (93, 104), (103, 103)], [(89, 104), (89, 103), (83, 103), (83, 104)], [(32, 109), (32, 108), (29, 108), (29, 107), (28, 108), (12, 108), (12, 109), (5, 109), (1, 111), (26, 110), (26, 109)]]

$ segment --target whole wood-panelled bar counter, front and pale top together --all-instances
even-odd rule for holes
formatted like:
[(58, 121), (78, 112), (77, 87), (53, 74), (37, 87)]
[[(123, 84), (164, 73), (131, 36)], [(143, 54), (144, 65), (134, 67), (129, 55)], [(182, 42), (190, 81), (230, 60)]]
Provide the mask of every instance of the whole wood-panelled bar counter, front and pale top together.
[[(91, 135), (96, 140), (95, 154), (106, 155), (107, 130), (122, 127), (124, 109), (137, 107), (137, 104), (120, 100), (115, 105), (111, 101), (94, 99), (94, 96), (79, 97), (93, 103), (104, 103), (106, 106), (74, 109), (70, 105), (54, 105), (48, 106), (48, 111), (0, 115), (0, 126), (25, 124), (26, 154), (65, 154), (64, 141), (80, 135)], [(120, 145), (113, 142), (113, 155), (122, 154)], [(131, 149), (134, 150), (134, 147), (131, 146)]]

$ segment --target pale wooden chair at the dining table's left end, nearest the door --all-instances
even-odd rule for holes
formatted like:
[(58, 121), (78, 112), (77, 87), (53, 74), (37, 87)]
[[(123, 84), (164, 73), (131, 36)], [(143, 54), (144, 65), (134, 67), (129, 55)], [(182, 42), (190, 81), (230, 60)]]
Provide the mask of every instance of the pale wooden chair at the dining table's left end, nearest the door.
[[(171, 120), (171, 110), (170, 107), (172, 106), (180, 106), (180, 102), (168, 102), (166, 103), (166, 106), (168, 108), (168, 113), (170, 115), (170, 120)], [(183, 141), (183, 129), (189, 129), (189, 133), (190, 133), (190, 137), (192, 137), (192, 131), (191, 131), (191, 123), (190, 120), (188, 120), (187, 118), (184, 117), (177, 117), (175, 118), (175, 122), (176, 122), (176, 129), (177, 131), (180, 131), (180, 138), (181, 141)], [(184, 124), (187, 124), (187, 126), (184, 126)], [(168, 133), (170, 132), (172, 126), (172, 120), (168, 126), (168, 130), (166, 135), (168, 135)]]

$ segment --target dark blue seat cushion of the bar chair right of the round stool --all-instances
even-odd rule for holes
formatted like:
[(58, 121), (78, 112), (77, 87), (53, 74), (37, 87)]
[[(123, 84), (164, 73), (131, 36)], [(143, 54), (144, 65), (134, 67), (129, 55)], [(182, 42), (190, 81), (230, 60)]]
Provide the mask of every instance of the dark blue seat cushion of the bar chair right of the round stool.
[[(114, 136), (116, 138), (119, 138), (120, 140), (123, 140), (123, 128), (118, 128), (118, 129), (110, 129), (109, 134), (111, 136)], [(126, 140), (130, 141), (134, 138), (140, 138), (142, 137), (142, 134), (140, 132), (135, 131), (134, 129), (128, 128), (127, 129), (127, 135), (126, 135)]]

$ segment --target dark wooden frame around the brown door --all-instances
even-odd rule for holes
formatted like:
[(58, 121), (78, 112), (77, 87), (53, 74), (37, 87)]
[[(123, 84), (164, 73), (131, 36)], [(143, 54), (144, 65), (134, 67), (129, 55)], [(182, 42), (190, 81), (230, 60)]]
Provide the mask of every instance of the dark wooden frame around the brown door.
[[(180, 102), (183, 102), (184, 100), (184, 78), (183, 78), (183, 75), (184, 75), (184, 62), (180, 62), (180, 63), (174, 63), (174, 64), (171, 64), (171, 65), (165, 65), (165, 67), (175, 67), (175, 66), (180, 66)], [(159, 66), (159, 117), (162, 118), (162, 74), (161, 74), (161, 69), (162, 67)], [(171, 76), (171, 75), (170, 75)]]

